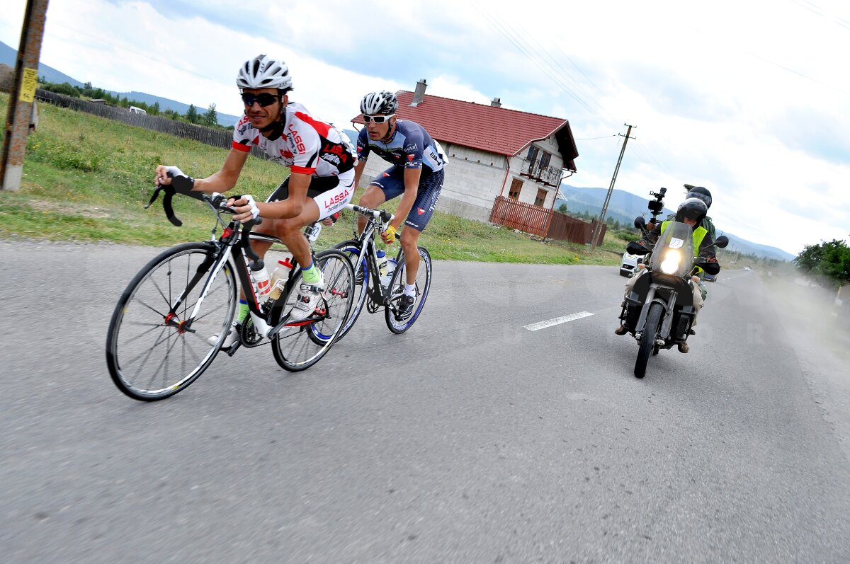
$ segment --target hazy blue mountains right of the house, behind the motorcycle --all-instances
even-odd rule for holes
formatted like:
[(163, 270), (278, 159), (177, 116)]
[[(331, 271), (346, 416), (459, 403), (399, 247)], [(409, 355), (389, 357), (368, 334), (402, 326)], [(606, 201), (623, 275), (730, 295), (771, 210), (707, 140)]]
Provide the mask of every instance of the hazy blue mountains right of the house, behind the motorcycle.
[[(608, 194), (607, 188), (578, 188), (563, 183), (561, 184), (561, 189), (559, 191), (563, 198), (555, 200), (555, 210), (558, 210), (558, 207), (561, 206), (561, 204), (565, 204), (567, 206), (567, 210), (572, 211), (573, 213), (587, 211), (588, 213), (596, 216), (598, 216), (599, 212), (602, 211), (602, 206), (605, 202), (605, 195)], [(634, 224), (635, 217), (643, 216), (649, 219), (648, 204), (651, 198), (652, 196), (649, 195), (649, 190), (647, 190), (646, 197), (642, 198), (641, 196), (634, 195), (631, 192), (615, 189), (611, 193), (611, 200), (608, 203), (608, 211), (605, 213), (605, 217), (612, 217), (615, 221), (619, 221), (621, 225), (628, 226)], [(664, 218), (672, 213), (672, 210), (664, 208), (660, 217)], [(785, 252), (774, 246), (760, 245), (758, 243), (742, 239), (737, 235), (729, 233), (723, 229), (722, 225), (718, 225), (717, 223), (714, 224), (714, 227), (717, 228), (718, 235), (723, 234), (729, 238), (729, 245), (727, 249), (730, 251), (740, 251), (744, 254), (752, 254), (763, 258), (775, 258), (780, 261), (791, 261), (795, 258), (795, 256), (791, 253)]]

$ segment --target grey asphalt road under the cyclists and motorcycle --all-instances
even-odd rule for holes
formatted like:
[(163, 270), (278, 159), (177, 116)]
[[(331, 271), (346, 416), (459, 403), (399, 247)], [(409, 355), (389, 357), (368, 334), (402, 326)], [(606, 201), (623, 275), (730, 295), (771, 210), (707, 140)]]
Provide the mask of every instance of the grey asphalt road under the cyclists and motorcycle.
[(155, 254), (0, 244), (5, 562), (850, 561), (846, 364), (755, 272), (643, 380), (616, 268), (436, 262), (405, 335), (139, 403), (105, 333)]

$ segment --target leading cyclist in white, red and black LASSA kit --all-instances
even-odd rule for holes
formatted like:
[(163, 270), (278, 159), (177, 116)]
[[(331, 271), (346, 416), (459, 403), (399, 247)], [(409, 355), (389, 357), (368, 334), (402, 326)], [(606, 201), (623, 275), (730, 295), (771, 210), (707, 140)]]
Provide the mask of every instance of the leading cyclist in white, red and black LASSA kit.
[[(235, 207), (235, 218), (242, 223), (263, 217), (265, 221), (255, 231), (282, 240), (302, 266), (303, 282), (290, 319), (305, 319), (320, 304), (324, 279), (313, 264), (309, 243), (301, 229), (340, 211), (351, 200), (357, 152), (344, 133), (310, 116), (303, 105), (289, 101), (292, 76), (282, 60), (258, 55), (246, 61), (236, 77), (236, 85), (241, 90), (245, 116), (236, 123), (233, 143), (221, 170), (207, 178), (193, 179), (177, 166), (160, 165), (156, 167), (156, 183), (169, 184), (173, 177), (179, 176), (189, 178), (194, 190), (225, 192), (236, 185), (253, 146), (271, 155), (280, 165), (288, 166), (289, 176), (265, 202), (244, 195), (241, 200), (229, 200), (229, 205)], [(260, 257), (270, 246), (268, 241), (252, 241)], [(244, 298), (242, 293), (237, 317), (240, 321), (248, 313)], [(224, 347), (237, 339), (234, 325)]]

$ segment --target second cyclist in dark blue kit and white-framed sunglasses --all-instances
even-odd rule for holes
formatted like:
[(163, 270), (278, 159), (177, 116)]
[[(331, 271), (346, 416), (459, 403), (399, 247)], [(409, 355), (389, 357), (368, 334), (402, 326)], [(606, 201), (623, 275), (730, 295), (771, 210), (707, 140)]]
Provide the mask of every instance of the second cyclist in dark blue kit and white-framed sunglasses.
[[(369, 183), (360, 197), (360, 205), (376, 208), (401, 196), (395, 217), (381, 234), (381, 239), (388, 245), (392, 244), (401, 222), (405, 223), (405, 230), (399, 238), (406, 263), (405, 290), (399, 301), (399, 314), (406, 315), (416, 302), (416, 272), (419, 268), (416, 245), (433, 215), (439, 191), (443, 188), (445, 157), (439, 144), (422, 126), (395, 117), (398, 108), (395, 94), (386, 90), (368, 93), (360, 101), (365, 127), (357, 138), (354, 186), (360, 182), (370, 153), (374, 152), (384, 161), (393, 163)], [(360, 217), (360, 228), (364, 225), (365, 217)]]

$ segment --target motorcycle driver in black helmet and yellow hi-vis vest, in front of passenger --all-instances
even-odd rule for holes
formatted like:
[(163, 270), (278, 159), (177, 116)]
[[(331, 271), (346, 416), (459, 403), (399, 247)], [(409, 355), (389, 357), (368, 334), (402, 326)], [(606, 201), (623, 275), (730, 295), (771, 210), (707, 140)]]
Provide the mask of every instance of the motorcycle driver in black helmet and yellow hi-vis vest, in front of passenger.
[[(714, 239), (711, 237), (711, 234), (708, 233), (708, 230), (700, 225), (702, 220), (706, 217), (706, 212), (708, 211), (708, 206), (703, 200), (699, 198), (688, 198), (684, 200), (682, 204), (679, 205), (676, 216), (674, 219), (680, 223), (687, 223), (691, 227), (691, 231), (694, 237), (694, 253), (695, 257), (699, 260), (704, 260), (707, 263), (700, 267), (694, 267), (695, 272), (700, 272), (705, 270), (709, 274), (717, 274), (720, 272), (720, 264), (717, 262), (717, 256), (714, 250)], [(626, 247), (626, 251), (632, 253), (633, 255), (646, 255), (651, 252), (651, 245), (655, 244), (655, 241), (658, 240), (660, 235), (664, 232), (667, 226), (671, 223), (671, 220), (667, 220), (659, 225), (656, 225), (655, 228), (649, 232), (649, 237), (647, 240), (640, 241), (632, 241)], [(645, 261), (644, 261), (645, 262)], [(635, 284), (638, 281), (638, 278), (643, 276), (646, 273), (646, 269), (643, 264), (639, 265), (638, 272), (632, 276), (632, 278), (628, 279), (626, 282), (626, 293), (628, 296), (632, 290), (634, 289)], [(691, 326), (696, 324), (696, 316), (700, 313), (700, 309), (703, 306), (703, 296), (700, 291), (699, 286), (700, 278), (696, 275), (691, 277), (691, 290), (694, 296), (694, 322)], [(629, 327), (626, 326), (625, 322), (617, 327), (614, 331), (616, 335), (626, 335), (626, 333), (630, 330)], [(682, 342), (678, 345), (680, 352), (688, 352), (688, 343)]]

